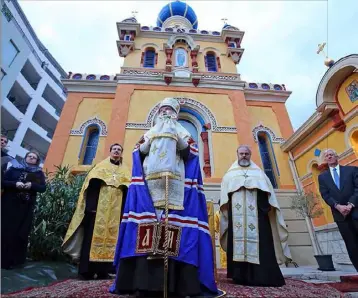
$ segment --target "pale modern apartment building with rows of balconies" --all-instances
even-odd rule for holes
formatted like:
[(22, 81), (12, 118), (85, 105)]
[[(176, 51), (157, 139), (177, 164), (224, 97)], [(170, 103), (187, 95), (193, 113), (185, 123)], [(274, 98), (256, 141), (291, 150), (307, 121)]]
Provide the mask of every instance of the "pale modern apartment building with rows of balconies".
[(1, 130), (9, 154), (46, 158), (66, 100), (67, 74), (41, 43), (16, 0), (1, 0)]

